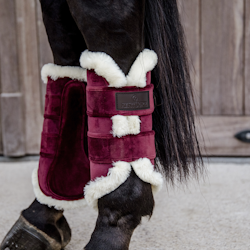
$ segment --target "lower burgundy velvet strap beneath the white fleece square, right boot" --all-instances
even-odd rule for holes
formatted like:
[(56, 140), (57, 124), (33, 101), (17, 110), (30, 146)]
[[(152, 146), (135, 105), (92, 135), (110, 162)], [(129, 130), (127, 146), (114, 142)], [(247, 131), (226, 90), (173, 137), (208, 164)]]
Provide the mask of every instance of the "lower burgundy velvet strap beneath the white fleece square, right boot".
[(94, 163), (132, 162), (139, 158), (154, 159), (154, 131), (114, 138), (112, 135), (88, 133), (89, 159)]

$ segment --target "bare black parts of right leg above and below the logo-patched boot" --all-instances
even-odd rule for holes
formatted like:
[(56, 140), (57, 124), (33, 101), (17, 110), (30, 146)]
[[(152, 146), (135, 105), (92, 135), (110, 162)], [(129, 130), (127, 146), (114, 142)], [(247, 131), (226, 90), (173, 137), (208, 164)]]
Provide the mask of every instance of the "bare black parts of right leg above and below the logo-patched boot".
[[(67, 0), (88, 49), (110, 55), (127, 74), (144, 49), (142, 0)], [(126, 250), (142, 216), (154, 207), (151, 185), (134, 171), (119, 188), (98, 201), (99, 215), (86, 250)]]

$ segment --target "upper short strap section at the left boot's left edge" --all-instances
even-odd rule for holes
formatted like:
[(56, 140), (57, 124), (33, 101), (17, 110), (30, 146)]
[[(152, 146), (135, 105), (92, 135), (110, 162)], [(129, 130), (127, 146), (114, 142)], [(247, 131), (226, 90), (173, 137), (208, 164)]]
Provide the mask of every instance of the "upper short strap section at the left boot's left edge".
[(61, 96), (60, 95), (46, 95), (45, 96), (45, 111), (44, 115), (60, 115)]

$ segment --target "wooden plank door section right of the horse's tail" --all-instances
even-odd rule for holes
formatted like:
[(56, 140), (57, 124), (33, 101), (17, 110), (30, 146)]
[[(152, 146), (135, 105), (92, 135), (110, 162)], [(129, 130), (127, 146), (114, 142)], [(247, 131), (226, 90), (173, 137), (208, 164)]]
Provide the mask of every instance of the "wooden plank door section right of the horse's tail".
[(250, 131), (250, 0), (179, 0), (203, 154), (249, 156), (234, 135)]

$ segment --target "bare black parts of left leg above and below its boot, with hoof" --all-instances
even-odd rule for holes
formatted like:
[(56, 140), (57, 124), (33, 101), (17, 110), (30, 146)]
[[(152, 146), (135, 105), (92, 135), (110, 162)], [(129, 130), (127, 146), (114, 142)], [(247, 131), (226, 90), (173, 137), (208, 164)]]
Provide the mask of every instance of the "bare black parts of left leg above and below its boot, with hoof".
[[(69, 12), (66, 0), (40, 2), (54, 63), (61, 66), (78, 66), (80, 53), (86, 45)], [(64, 248), (70, 239), (71, 230), (63, 211), (50, 208), (35, 199), (22, 211), (21, 217), (9, 231), (0, 248), (54, 250)]]

